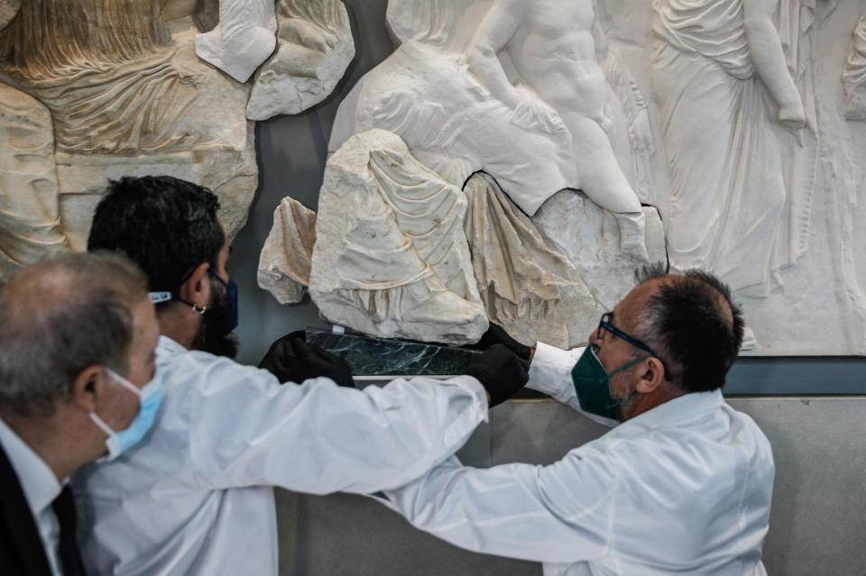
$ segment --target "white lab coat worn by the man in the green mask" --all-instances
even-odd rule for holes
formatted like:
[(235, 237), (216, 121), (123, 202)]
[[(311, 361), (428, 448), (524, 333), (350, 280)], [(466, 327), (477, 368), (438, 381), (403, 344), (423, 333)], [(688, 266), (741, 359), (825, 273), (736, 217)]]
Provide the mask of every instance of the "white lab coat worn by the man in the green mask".
[[(579, 407), (583, 350), (539, 344), (532, 387)], [(549, 466), (473, 469), (450, 459), (389, 505), (451, 544), (544, 562), (546, 576), (764, 574), (769, 442), (719, 391), (687, 394)]]

